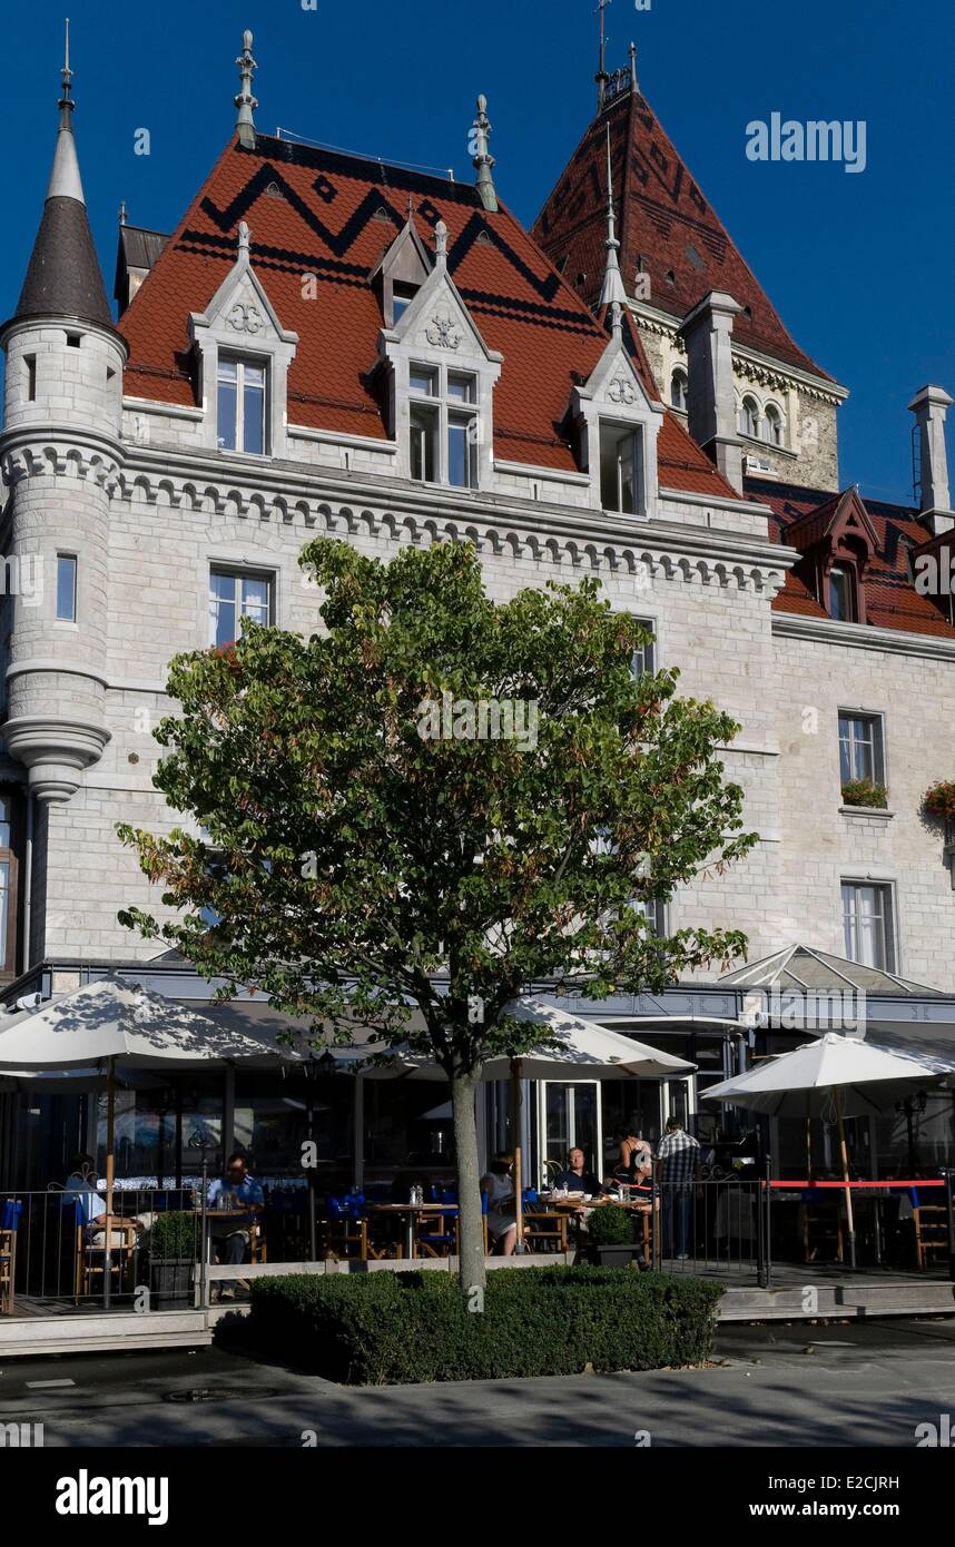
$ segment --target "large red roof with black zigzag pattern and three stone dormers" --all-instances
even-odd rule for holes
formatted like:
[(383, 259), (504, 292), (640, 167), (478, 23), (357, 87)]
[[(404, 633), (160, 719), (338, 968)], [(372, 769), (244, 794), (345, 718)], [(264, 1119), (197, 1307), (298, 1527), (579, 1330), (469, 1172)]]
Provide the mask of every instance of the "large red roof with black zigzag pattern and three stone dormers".
[[(587, 381), (608, 334), (514, 215), (489, 213), (464, 184), (268, 136), (254, 152), (228, 145), (122, 316), (127, 393), (195, 402), (189, 314), (206, 309), (229, 272), (245, 220), (252, 266), (282, 325), (299, 334), (289, 424), (382, 439), (370, 379), (382, 316), (368, 274), (402, 229), (409, 201), (429, 251), (444, 220), (449, 272), (484, 342), (505, 356), (495, 455), (573, 472), (571, 390)], [(303, 295), (303, 274), (316, 275), (316, 299)], [(656, 398), (639, 340), (633, 356)], [(659, 456), (669, 487), (734, 497), (669, 412)]]

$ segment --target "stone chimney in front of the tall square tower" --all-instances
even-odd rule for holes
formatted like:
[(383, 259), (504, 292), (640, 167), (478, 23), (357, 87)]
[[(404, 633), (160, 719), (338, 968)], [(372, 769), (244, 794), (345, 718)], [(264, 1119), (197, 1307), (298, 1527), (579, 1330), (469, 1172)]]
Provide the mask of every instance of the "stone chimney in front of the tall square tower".
[(737, 493), (743, 492), (743, 442), (732, 385), (732, 325), (741, 311), (726, 291), (710, 291), (679, 325), (687, 353), (690, 435)]

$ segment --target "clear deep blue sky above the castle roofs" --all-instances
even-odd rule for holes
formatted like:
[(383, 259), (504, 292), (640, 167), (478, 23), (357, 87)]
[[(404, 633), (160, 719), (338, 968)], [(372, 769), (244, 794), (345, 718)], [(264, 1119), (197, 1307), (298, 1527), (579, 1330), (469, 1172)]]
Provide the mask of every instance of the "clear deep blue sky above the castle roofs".
[[(308, 3), (308, 0), (306, 0)], [(645, 3), (645, 0), (644, 0)], [(471, 176), (484, 91), (501, 196), (531, 223), (593, 114), (596, 0), (5, 0), (8, 158), (0, 311), (40, 217), (62, 15), (73, 28), (87, 203), (111, 291), (116, 210), (172, 229), (234, 122), (235, 56), (255, 32), (257, 122)], [(910, 498), (905, 405), (955, 396), (950, 0), (632, 0), (607, 9), (610, 62), (641, 87), (791, 333), (851, 390), (842, 484)], [(757, 164), (746, 124), (864, 119), (867, 169)], [(149, 128), (150, 155), (135, 155)], [(12, 152), (12, 153), (11, 153)]]

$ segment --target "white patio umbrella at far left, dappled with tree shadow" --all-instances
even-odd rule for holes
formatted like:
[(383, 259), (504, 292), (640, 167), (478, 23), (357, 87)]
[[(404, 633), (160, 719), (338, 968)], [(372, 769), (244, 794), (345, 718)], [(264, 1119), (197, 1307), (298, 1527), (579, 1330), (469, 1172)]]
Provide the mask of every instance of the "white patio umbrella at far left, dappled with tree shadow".
[[(76, 1071), (88, 1081), (94, 1069), (107, 1078), (107, 1252), (111, 1242), (116, 1064), (130, 1069), (193, 1069), (299, 1061), (265, 1038), (223, 1027), (163, 995), (102, 978), (51, 999), (39, 1010), (0, 1019), (0, 1074), (29, 1080)], [(108, 1296), (108, 1273), (104, 1275)]]

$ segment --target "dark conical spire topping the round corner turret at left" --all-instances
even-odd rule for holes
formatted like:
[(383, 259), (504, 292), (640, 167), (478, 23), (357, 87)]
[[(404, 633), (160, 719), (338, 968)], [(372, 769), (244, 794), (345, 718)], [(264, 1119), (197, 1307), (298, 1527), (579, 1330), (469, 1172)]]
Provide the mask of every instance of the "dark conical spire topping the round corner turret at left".
[(74, 317), (113, 326), (96, 248), (90, 232), (84, 186), (73, 136), (73, 70), (70, 22), (63, 53), (60, 121), (43, 218), (17, 303), (17, 317)]

